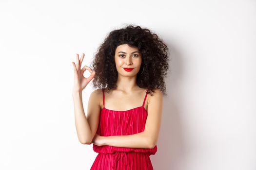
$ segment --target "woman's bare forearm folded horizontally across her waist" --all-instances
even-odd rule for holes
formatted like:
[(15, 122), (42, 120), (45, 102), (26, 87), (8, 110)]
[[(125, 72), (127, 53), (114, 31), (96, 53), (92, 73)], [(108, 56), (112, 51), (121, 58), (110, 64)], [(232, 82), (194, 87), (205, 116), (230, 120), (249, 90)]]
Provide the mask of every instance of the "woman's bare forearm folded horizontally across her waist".
[(103, 145), (125, 147), (125, 148), (153, 148), (150, 138), (140, 132), (133, 135), (125, 136), (102, 136)]

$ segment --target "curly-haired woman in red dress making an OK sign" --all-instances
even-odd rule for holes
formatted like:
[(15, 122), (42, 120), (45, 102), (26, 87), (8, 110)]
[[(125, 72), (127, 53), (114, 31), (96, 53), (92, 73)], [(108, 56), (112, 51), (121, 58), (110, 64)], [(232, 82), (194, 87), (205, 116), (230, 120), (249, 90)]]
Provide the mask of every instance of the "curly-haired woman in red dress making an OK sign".
[[(84, 53), (77, 54), (77, 64), (72, 62), (75, 122), (79, 142), (93, 143), (98, 153), (91, 170), (153, 170), (149, 156), (157, 152), (167, 51), (157, 34), (129, 25), (105, 38), (94, 69), (81, 68)], [(82, 90), (92, 79), (98, 89), (90, 95), (86, 117)]]

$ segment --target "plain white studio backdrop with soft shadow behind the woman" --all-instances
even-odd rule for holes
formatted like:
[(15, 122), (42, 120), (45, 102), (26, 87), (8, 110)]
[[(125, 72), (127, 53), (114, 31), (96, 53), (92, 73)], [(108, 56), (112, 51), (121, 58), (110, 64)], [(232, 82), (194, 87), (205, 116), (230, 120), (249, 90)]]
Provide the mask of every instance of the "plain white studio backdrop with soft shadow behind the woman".
[(90, 169), (71, 62), (127, 24), (170, 49), (154, 169), (256, 170), (255, 0), (1, 0), (0, 169)]

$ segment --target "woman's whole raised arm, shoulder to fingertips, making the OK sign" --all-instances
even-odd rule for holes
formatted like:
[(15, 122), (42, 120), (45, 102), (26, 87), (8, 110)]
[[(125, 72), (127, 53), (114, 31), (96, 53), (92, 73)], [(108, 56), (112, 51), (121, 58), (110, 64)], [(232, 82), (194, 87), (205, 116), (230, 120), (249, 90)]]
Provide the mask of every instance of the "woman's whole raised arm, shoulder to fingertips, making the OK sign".
[[(72, 62), (75, 73), (75, 83), (72, 96), (74, 101), (75, 123), (79, 142), (82, 144), (91, 144), (91, 141), (98, 128), (100, 105), (98, 100), (98, 93), (96, 93), (98, 90), (94, 90), (90, 95), (86, 118), (82, 103), (82, 90), (93, 79), (95, 76), (95, 71), (92, 71), (92, 69), (87, 66), (84, 66), (81, 69), (83, 57), (84, 53), (80, 59), (79, 55), (77, 54), (77, 64)], [(88, 78), (83, 76), (83, 73), (86, 69), (91, 72), (91, 75)]]

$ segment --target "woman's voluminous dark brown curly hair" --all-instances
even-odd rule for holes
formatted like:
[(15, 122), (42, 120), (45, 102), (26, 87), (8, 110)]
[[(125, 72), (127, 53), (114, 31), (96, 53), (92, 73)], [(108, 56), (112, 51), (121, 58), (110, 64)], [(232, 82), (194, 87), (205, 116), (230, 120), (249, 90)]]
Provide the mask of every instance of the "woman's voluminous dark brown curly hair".
[(105, 88), (108, 92), (117, 88), (118, 71), (114, 57), (117, 47), (122, 44), (137, 47), (141, 52), (142, 61), (137, 74), (137, 85), (147, 88), (151, 95), (156, 88), (166, 95), (164, 78), (169, 68), (168, 47), (157, 34), (138, 25), (128, 25), (111, 31), (98, 47), (92, 63), (96, 72), (93, 87)]

